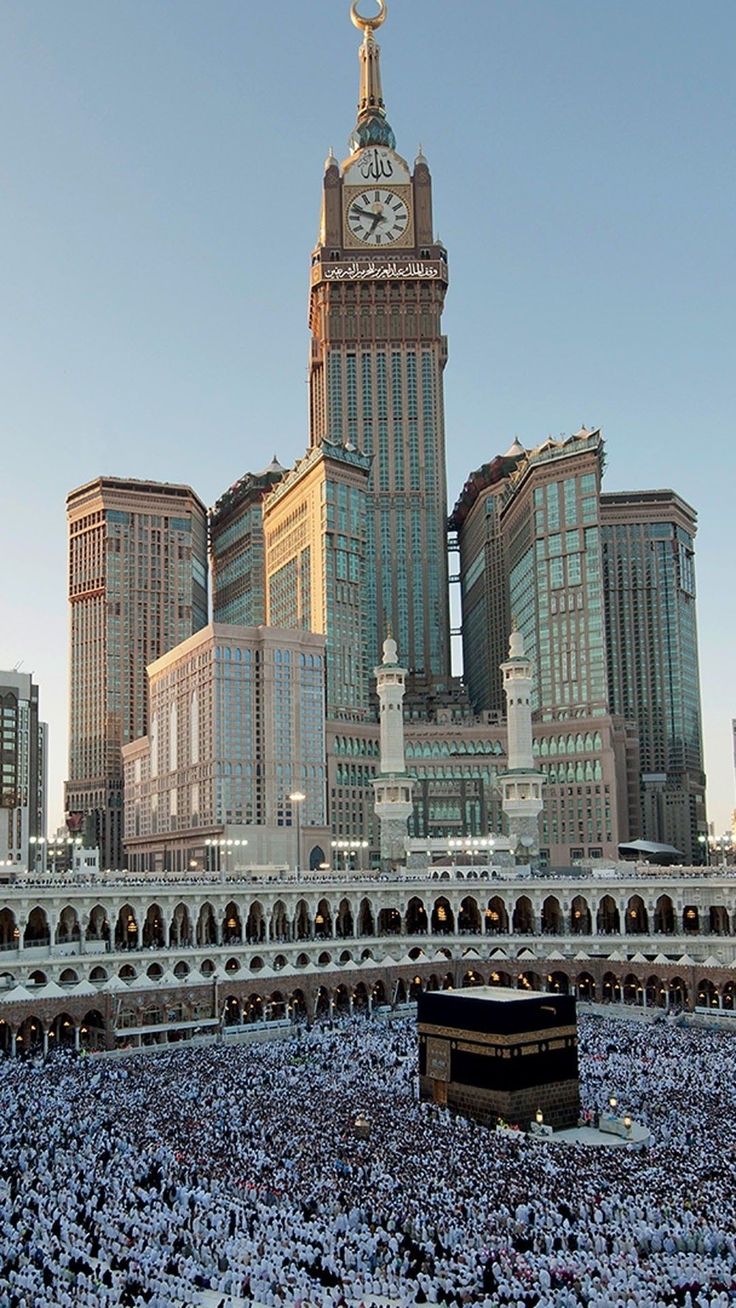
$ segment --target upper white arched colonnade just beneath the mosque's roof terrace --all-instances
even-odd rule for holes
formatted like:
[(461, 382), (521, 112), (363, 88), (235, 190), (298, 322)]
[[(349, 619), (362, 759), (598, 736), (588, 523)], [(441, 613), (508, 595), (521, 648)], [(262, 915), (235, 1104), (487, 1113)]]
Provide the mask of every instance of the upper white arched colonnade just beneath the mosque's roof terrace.
[(233, 893), (231, 897), (170, 893), (101, 896), (88, 904), (44, 903), (0, 908), (3, 952), (63, 948), (65, 952), (210, 948), (234, 944), (290, 944), (307, 940), (391, 935), (635, 937), (736, 934), (736, 904), (705, 905), (682, 887), (665, 892), (612, 893), (590, 887), (573, 893), (467, 886), (412, 891), (401, 887), (360, 893), (310, 888), (292, 893)]

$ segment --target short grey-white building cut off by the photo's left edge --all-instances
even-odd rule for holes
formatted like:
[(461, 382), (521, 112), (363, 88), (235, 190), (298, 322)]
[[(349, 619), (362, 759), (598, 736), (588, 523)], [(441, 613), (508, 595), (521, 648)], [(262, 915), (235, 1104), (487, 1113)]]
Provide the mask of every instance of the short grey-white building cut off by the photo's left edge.
[[(46, 723), (29, 672), (0, 672), (0, 865), (35, 869), (46, 833)], [(35, 846), (35, 849), (34, 849)]]

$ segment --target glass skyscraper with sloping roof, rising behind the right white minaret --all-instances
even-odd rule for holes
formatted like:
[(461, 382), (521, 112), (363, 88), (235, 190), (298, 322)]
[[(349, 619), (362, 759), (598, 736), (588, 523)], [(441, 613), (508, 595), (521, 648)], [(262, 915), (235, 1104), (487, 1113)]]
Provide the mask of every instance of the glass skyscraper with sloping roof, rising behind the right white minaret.
[[(509, 612), (536, 663), (533, 709), (607, 712), (600, 555), (603, 437), (582, 428), (515, 442), (473, 472), (455, 505), (463, 654), (476, 709), (502, 708)], [(497, 662), (498, 659), (498, 662)]]

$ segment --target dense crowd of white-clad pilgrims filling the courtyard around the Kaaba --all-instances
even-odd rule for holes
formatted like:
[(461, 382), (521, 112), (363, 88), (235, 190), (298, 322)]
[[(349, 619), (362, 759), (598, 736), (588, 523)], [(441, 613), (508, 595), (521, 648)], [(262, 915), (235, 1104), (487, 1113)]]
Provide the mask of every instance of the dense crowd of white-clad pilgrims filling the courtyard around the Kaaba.
[[(729, 1033), (580, 1020), (644, 1148), (417, 1101), (416, 1028), (0, 1066), (0, 1308), (736, 1303)], [(360, 1113), (370, 1137), (356, 1137)]]

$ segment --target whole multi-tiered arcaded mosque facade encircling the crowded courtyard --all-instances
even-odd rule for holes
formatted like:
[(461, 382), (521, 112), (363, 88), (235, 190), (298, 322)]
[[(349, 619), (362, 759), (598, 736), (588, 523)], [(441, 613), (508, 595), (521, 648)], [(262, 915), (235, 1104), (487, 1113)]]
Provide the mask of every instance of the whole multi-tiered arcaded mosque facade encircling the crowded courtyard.
[(0, 892), (0, 959), (10, 1056), (227, 1039), (472, 985), (729, 1023), (736, 883), (631, 865), (531, 878), (472, 855), (403, 878), (18, 882)]

